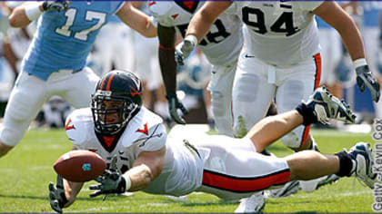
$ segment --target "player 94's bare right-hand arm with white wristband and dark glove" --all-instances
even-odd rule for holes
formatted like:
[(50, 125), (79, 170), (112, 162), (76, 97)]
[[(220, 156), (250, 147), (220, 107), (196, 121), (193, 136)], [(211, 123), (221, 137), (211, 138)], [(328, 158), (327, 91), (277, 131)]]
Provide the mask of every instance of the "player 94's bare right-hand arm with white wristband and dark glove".
[(342, 40), (347, 46), (347, 51), (354, 62), (359, 90), (365, 92), (367, 87), (371, 92), (373, 101), (378, 102), (380, 86), (376, 78), (369, 71), (367, 61), (365, 60), (362, 37), (353, 19), (336, 2), (332, 1), (325, 1), (313, 13), (320, 16), (327, 24), (332, 25), (341, 34)]

